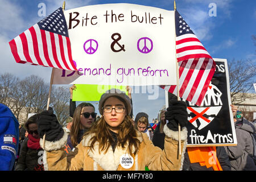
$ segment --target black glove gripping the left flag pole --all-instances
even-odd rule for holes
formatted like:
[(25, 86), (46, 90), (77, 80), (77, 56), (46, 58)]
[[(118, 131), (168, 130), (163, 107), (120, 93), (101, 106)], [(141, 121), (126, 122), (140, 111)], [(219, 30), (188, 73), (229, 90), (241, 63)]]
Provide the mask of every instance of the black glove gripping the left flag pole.
[(56, 115), (53, 114), (53, 110), (44, 110), (39, 114), (38, 133), (40, 138), (43, 138), (44, 134), (46, 134), (46, 140), (50, 142), (55, 142), (63, 137), (64, 130)]

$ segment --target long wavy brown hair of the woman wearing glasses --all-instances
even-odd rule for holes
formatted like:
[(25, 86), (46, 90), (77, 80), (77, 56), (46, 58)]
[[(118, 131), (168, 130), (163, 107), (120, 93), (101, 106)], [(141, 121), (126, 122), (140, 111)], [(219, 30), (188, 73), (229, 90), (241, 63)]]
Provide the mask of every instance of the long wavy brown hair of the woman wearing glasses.
[[(133, 121), (129, 115), (125, 116), (123, 122), (118, 126), (118, 136), (117, 136), (117, 146), (121, 146), (122, 148), (125, 147), (125, 144), (128, 143), (128, 152), (131, 155), (133, 151), (133, 146), (135, 148), (134, 154), (136, 154), (139, 150), (139, 140), (137, 138), (137, 131), (133, 126)], [(106, 151), (111, 146), (111, 143), (114, 141), (112, 134), (108, 129), (108, 124), (106, 123), (104, 117), (101, 117), (95, 125), (93, 125), (90, 130), (85, 133), (88, 134), (95, 134), (90, 139), (90, 150), (94, 149), (94, 143), (99, 143), (99, 153), (101, 151)], [(105, 154), (104, 153), (104, 154)]]

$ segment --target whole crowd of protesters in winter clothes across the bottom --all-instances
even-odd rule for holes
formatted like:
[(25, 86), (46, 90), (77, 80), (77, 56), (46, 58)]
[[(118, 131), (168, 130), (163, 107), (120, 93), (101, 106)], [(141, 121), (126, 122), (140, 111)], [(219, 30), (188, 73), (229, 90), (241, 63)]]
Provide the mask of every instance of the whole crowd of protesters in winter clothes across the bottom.
[[(69, 89), (72, 122), (67, 127), (60, 125), (51, 108), (28, 118), (23, 127), (10, 109), (0, 104), (0, 170), (256, 171), (255, 121), (236, 117), (237, 106), (230, 105), (236, 146), (187, 147), (188, 113), (184, 101), (170, 100), (152, 129), (147, 113), (138, 111), (133, 119), (129, 86), (128, 96), (118, 89), (102, 94), (100, 113), (95, 113), (88, 102), (76, 106), (72, 101), (75, 89), (75, 85)], [(182, 149), (179, 158), (178, 125)], [(121, 158), (133, 158), (134, 163), (121, 164)]]

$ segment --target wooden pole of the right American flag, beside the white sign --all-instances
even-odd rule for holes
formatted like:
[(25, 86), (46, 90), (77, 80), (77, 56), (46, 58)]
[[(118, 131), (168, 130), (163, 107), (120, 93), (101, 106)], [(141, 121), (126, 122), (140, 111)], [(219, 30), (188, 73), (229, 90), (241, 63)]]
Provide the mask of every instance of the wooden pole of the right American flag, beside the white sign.
[[(176, 11), (176, 2), (174, 0), (174, 19), (175, 19), (175, 11)], [(175, 22), (175, 21), (174, 21)], [(175, 39), (176, 39), (176, 24), (175, 26)], [(180, 101), (180, 89), (179, 89), (179, 64), (177, 63), (177, 54), (175, 53), (176, 60), (176, 82), (177, 82), (177, 100)], [(178, 134), (179, 134), (179, 155), (181, 155), (181, 133), (180, 133), (180, 124), (178, 123)]]

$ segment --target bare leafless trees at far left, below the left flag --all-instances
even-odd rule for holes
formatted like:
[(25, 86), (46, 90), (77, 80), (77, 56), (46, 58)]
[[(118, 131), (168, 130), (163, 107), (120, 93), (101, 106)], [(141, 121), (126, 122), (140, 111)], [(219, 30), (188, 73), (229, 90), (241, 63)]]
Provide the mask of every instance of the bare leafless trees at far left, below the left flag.
[[(23, 80), (5, 73), (0, 75), (0, 102), (7, 105), (18, 121), (27, 121), (29, 113), (46, 110), (49, 84), (38, 76), (31, 75)], [(69, 89), (52, 87), (50, 106), (58, 121), (65, 126), (69, 117)], [(69, 119), (69, 120), (68, 120)]]

